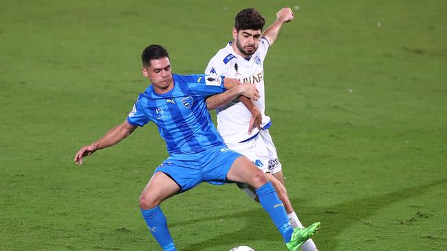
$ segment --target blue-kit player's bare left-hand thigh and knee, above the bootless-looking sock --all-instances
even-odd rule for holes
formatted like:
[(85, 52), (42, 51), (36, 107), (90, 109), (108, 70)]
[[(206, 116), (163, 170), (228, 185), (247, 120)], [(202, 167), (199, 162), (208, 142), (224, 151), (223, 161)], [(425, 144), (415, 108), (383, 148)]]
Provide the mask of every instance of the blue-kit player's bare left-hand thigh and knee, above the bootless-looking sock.
[(153, 174), (140, 195), (140, 206), (157, 206), (163, 200), (179, 193), (179, 191), (180, 188), (173, 179), (163, 172), (157, 171)]

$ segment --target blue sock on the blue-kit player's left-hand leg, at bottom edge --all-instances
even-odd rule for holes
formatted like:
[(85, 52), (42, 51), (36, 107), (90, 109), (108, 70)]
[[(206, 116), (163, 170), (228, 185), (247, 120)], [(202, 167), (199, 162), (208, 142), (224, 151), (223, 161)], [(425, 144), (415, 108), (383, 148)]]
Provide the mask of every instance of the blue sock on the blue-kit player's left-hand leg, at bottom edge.
[(160, 206), (155, 208), (144, 210), (140, 209), (143, 215), (144, 221), (146, 221), (149, 232), (153, 235), (158, 244), (165, 251), (177, 251), (174, 246), (174, 241), (168, 230), (168, 224), (166, 223), (166, 217), (162, 212)]

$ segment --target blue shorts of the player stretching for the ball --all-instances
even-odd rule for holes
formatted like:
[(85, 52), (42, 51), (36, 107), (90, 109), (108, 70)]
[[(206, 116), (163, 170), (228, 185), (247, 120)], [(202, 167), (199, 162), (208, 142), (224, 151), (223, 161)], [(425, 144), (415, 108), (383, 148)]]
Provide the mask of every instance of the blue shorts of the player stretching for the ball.
[(226, 179), (231, 165), (239, 154), (226, 145), (211, 147), (198, 154), (171, 154), (159, 165), (157, 171), (170, 176), (180, 187), (180, 193), (196, 187), (201, 182), (210, 184), (232, 183)]

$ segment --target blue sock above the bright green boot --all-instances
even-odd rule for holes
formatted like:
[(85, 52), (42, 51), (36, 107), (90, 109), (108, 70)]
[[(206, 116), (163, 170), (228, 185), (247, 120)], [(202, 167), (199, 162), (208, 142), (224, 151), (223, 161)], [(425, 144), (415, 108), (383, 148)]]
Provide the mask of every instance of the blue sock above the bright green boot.
[(287, 213), (285, 213), (284, 204), (279, 200), (278, 195), (272, 186), (272, 182), (267, 182), (262, 187), (259, 187), (259, 189), (256, 189), (256, 194), (258, 195), (262, 207), (270, 215), (276, 229), (283, 235), (284, 242), (289, 242), (294, 230), (290, 226), (289, 218), (287, 217)]

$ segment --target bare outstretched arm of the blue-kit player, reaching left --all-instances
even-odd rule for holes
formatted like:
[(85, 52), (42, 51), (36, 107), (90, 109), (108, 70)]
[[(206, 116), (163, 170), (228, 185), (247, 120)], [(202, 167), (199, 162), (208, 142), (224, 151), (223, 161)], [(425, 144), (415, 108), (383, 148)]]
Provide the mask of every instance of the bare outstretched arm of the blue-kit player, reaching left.
[(129, 136), (135, 128), (137, 127), (129, 124), (127, 120), (120, 125), (116, 125), (116, 127), (109, 130), (109, 132), (102, 136), (101, 139), (98, 139), (98, 141), (82, 147), (76, 156), (74, 156), (74, 162), (78, 165), (83, 165), (83, 157), (93, 154), (96, 150), (115, 145), (125, 137)]

